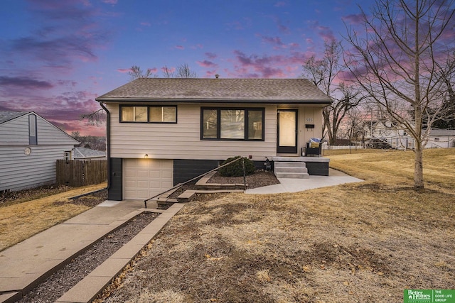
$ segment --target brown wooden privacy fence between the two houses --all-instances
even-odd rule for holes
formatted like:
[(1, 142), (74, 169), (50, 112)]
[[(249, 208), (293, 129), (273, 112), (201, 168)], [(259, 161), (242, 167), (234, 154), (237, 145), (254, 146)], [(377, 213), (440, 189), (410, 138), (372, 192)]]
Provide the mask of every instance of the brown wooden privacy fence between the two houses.
[(107, 180), (107, 160), (57, 160), (57, 184), (80, 187)]

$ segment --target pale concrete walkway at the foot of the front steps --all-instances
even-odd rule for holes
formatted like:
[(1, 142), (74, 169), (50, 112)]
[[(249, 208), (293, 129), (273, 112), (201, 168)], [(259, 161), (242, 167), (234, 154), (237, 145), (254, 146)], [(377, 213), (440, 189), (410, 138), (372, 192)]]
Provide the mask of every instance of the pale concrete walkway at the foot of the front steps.
[(301, 192), (307, 189), (328, 187), (344, 183), (362, 182), (344, 172), (329, 168), (328, 176), (312, 176), (309, 179), (284, 179), (279, 178), (280, 184), (247, 189), (245, 194), (279, 194), (283, 192)]

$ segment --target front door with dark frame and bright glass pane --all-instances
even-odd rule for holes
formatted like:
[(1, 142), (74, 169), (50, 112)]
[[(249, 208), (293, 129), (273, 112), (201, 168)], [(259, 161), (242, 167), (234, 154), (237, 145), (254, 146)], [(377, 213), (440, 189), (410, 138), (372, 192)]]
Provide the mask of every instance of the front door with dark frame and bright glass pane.
[(297, 110), (278, 110), (277, 153), (297, 153)]

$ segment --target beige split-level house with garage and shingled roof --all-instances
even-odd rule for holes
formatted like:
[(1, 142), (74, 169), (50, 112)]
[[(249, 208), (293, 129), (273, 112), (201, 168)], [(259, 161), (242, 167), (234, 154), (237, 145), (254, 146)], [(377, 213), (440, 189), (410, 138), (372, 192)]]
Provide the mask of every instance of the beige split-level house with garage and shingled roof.
[[(299, 160), (332, 101), (307, 79), (218, 78), (139, 78), (96, 100), (112, 200), (149, 199), (236, 155)], [(328, 159), (312, 159), (309, 174), (328, 175)]]

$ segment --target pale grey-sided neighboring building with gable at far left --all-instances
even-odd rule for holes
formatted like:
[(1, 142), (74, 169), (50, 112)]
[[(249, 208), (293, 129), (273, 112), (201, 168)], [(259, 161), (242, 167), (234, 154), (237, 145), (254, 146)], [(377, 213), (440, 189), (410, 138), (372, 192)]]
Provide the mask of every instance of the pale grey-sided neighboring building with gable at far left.
[(77, 144), (33, 111), (0, 111), (0, 192), (55, 183), (55, 160)]

